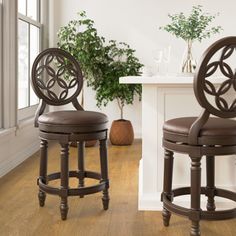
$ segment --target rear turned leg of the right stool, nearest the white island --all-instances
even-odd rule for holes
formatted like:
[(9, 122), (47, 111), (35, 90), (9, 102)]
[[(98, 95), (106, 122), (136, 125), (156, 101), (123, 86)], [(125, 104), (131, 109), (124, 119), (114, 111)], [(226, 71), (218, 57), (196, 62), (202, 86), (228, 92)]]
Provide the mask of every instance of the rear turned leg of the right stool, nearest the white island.
[(206, 186), (206, 195), (207, 195), (207, 210), (215, 211), (215, 157), (207, 156), (206, 157), (206, 175), (207, 175), (207, 186)]

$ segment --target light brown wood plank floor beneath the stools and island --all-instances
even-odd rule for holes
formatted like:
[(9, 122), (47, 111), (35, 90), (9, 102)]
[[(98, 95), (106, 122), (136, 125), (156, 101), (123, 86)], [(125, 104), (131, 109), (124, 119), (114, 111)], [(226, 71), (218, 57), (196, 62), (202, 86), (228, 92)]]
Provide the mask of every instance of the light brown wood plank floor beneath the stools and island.
[[(75, 169), (76, 148), (71, 148), (70, 154), (70, 166)], [(59, 147), (50, 147), (49, 155), (49, 171), (59, 170)], [(68, 219), (61, 221), (59, 197), (47, 196), (45, 207), (38, 206), (36, 153), (0, 180), (0, 235), (189, 235), (185, 218), (172, 216), (165, 228), (160, 212), (138, 211), (140, 157), (138, 141), (129, 147), (109, 146), (110, 209), (102, 210), (101, 193), (83, 199), (71, 197)], [(87, 169), (99, 170), (98, 160), (98, 148), (86, 148)], [(76, 180), (71, 181), (72, 186), (76, 184)], [(202, 236), (235, 236), (236, 220), (202, 222), (201, 230)]]

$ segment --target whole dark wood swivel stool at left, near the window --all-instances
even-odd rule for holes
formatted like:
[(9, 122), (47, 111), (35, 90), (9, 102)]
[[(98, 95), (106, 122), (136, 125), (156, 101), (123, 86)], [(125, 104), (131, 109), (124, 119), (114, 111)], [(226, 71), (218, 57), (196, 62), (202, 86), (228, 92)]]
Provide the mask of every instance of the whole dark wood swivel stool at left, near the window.
[[(77, 97), (83, 86), (83, 77), (78, 62), (67, 52), (51, 48), (40, 53), (32, 67), (32, 87), (40, 99), (35, 116), (35, 126), (39, 128), (41, 139), (40, 173), (38, 178), (39, 204), (44, 206), (46, 193), (61, 197), (61, 218), (68, 213), (68, 196), (83, 197), (103, 191), (103, 208), (108, 209), (109, 180), (107, 166), (107, 123), (105, 114), (84, 111)], [(44, 113), (46, 105), (61, 106), (72, 103), (76, 110)], [(48, 141), (58, 141), (61, 146), (61, 171), (47, 174)], [(99, 140), (101, 173), (85, 170), (84, 142)], [(78, 143), (78, 169), (69, 171), (69, 143)], [(69, 187), (69, 178), (78, 179), (78, 188)], [(93, 186), (84, 186), (84, 178), (98, 180)], [(60, 179), (60, 187), (52, 187), (49, 182)]]

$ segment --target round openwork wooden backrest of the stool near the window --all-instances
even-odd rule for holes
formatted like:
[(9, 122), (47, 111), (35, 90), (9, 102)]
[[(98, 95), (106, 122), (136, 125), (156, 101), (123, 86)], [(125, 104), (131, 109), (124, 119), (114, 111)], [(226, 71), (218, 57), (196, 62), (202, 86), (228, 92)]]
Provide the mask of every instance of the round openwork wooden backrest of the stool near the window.
[(59, 106), (72, 102), (75, 105), (83, 76), (74, 57), (62, 49), (50, 48), (35, 59), (31, 82), (35, 94), (46, 104)]

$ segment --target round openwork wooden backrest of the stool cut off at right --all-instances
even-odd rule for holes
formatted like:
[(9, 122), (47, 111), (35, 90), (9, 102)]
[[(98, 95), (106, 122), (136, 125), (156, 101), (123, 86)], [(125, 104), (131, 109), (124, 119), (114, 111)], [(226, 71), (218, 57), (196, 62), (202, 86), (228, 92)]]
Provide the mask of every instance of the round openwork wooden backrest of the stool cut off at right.
[(210, 114), (236, 117), (236, 37), (220, 39), (206, 50), (195, 73), (194, 92)]

